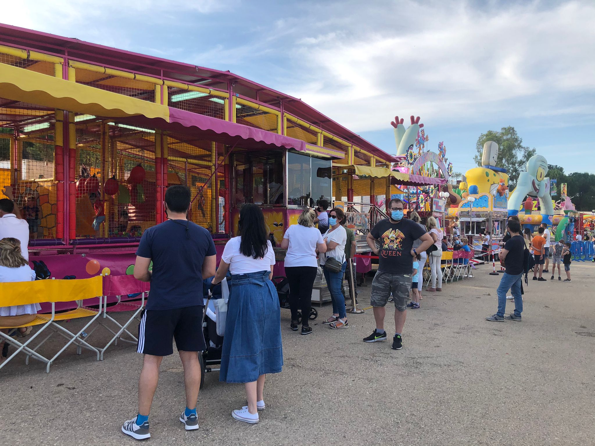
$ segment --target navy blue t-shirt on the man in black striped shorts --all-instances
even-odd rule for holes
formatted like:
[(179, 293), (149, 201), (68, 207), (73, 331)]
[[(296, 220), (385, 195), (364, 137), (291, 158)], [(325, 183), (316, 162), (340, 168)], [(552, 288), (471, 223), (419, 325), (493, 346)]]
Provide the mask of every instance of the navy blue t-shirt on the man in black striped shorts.
[(186, 220), (164, 221), (143, 233), (136, 255), (153, 261), (148, 310), (203, 304), (202, 263), (215, 255), (205, 228)]

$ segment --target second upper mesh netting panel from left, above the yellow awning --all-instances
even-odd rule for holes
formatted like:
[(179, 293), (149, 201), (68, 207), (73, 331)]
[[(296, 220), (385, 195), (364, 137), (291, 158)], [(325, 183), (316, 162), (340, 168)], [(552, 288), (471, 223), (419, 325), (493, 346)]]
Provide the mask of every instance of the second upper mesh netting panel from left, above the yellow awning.
[(118, 95), (155, 102), (155, 84), (120, 76), (110, 76), (95, 71), (75, 69), (75, 78), (78, 84), (84, 84)]

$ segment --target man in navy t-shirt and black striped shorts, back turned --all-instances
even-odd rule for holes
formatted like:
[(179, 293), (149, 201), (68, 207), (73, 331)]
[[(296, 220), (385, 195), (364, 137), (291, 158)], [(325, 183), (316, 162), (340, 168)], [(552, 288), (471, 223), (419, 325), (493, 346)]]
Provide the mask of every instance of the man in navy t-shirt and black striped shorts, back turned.
[[(148, 303), (139, 324), (138, 353), (145, 354), (139, 381), (139, 413), (122, 426), (124, 434), (149, 438), (149, 411), (164, 356), (173, 353), (172, 340), (184, 365), (186, 409), (180, 421), (187, 431), (198, 429), (196, 400), (201, 386), (198, 351), (202, 335), (202, 279), (215, 274), (217, 263), (211, 234), (188, 221), (190, 189), (170, 186), (165, 192), (167, 221), (149, 228), (136, 251), (134, 277), (151, 282)], [(152, 271), (149, 265), (153, 262)]]

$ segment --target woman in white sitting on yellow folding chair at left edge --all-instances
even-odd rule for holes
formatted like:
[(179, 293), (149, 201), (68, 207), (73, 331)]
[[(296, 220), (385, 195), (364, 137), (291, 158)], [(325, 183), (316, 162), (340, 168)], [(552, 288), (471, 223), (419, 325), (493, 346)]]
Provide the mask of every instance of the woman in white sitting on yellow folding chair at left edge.
[[(30, 282), (35, 280), (35, 271), (30, 268), (29, 262), (21, 254), (21, 242), (17, 238), (6, 237), (0, 240), (0, 282)], [(25, 337), (32, 326), (23, 326), (35, 319), (41, 309), (38, 303), (29, 305), (16, 305), (0, 307), (0, 325), (21, 326), (17, 336)], [(2, 329), (8, 333), (9, 329)], [(4, 343), (0, 343), (0, 351)], [(0, 357), (0, 361), (2, 361)]]

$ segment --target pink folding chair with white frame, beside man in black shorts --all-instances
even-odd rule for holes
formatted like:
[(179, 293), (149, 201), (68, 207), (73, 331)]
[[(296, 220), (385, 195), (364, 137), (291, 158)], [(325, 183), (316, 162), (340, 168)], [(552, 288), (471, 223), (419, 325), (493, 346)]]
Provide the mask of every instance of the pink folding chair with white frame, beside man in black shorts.
[[(109, 340), (109, 342), (105, 345), (104, 348), (100, 350), (99, 359), (104, 360), (104, 353), (105, 350), (111, 344), (118, 345), (118, 339), (130, 344), (136, 344), (139, 340), (128, 331), (128, 326), (130, 323), (137, 318), (140, 312), (142, 312), (143, 308), (145, 307), (145, 297), (147, 291), (149, 291), (151, 285), (149, 282), (141, 282), (134, 278), (133, 275), (121, 275), (121, 276), (105, 276), (104, 277), (104, 314), (102, 318), (99, 318), (99, 323), (104, 326), (107, 331), (111, 332), (114, 337)], [(141, 298), (134, 299), (134, 300), (122, 300), (122, 296), (127, 296), (128, 294), (136, 294), (140, 293)], [(108, 296), (116, 296), (117, 303), (112, 306), (107, 306), (107, 299)], [(116, 321), (114, 318), (108, 315), (110, 312), (125, 312), (125, 311), (132, 311), (133, 314), (130, 316), (128, 321), (124, 322), (122, 325), (120, 322)], [(117, 325), (120, 329), (115, 332), (109, 326), (106, 325), (107, 320), (111, 321), (115, 325)], [(126, 333), (130, 339), (126, 339), (122, 337), (122, 334)]]

